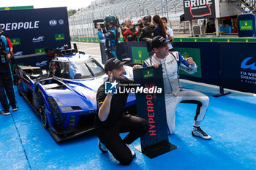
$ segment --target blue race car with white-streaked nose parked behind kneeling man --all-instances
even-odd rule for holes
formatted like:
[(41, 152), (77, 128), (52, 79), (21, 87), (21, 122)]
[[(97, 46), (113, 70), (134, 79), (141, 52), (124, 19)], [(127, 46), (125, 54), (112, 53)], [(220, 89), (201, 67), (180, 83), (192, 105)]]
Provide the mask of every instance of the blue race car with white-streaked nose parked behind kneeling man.
[[(124, 69), (125, 77), (132, 79), (132, 67)], [(97, 89), (107, 79), (102, 64), (76, 50), (61, 50), (50, 61), (49, 71), (18, 66), (18, 92), (56, 142), (94, 129)], [(127, 112), (135, 110), (135, 96), (129, 96), (126, 107)]]

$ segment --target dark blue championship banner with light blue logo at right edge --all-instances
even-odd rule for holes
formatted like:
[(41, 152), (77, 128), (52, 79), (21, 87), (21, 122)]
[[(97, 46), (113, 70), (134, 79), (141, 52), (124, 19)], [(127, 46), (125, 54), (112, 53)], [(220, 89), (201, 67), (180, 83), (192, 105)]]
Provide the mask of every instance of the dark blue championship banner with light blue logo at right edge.
[(256, 93), (256, 43), (219, 43), (223, 87)]

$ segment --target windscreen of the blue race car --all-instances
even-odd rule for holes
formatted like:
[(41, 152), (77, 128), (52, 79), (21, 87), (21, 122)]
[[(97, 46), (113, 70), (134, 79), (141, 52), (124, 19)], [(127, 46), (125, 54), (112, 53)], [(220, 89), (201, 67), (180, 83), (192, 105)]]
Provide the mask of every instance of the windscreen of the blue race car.
[(94, 59), (74, 61), (52, 61), (50, 72), (65, 79), (86, 79), (105, 74), (103, 67)]

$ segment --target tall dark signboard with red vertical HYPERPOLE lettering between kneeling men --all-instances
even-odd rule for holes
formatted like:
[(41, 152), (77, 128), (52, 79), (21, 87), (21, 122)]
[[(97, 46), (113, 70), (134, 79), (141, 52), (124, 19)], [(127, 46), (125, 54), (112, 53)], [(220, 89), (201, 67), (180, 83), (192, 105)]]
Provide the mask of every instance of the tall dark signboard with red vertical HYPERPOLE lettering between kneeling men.
[(161, 93), (158, 90), (157, 93), (150, 90), (148, 93), (136, 93), (138, 116), (148, 120), (149, 124), (148, 132), (140, 137), (140, 146), (136, 149), (149, 158), (155, 158), (177, 148), (168, 139), (162, 65), (158, 69), (135, 69), (133, 74), (140, 88), (162, 89)]

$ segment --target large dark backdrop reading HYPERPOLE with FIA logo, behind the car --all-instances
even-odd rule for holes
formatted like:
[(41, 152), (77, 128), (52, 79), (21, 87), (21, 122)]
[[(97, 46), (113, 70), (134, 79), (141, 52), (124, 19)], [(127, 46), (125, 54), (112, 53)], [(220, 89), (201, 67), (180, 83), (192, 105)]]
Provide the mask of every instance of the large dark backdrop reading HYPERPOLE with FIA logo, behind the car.
[(71, 47), (67, 7), (0, 11), (0, 26), (15, 57), (44, 53), (45, 47)]

